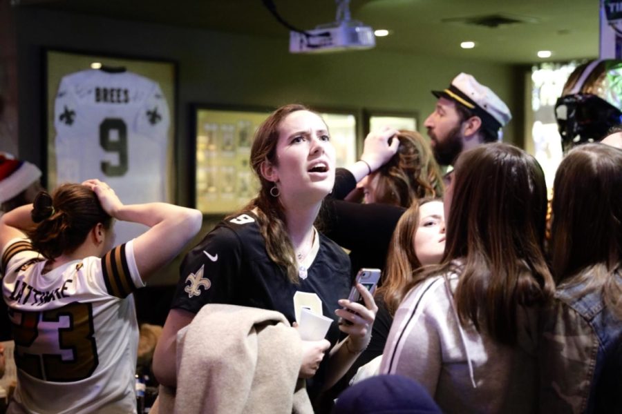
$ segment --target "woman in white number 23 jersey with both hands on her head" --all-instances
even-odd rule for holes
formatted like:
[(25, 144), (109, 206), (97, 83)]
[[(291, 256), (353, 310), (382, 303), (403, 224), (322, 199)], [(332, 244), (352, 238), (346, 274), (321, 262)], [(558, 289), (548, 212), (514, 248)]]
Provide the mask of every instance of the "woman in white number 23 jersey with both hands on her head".
[[(115, 219), (150, 228), (114, 246)], [(126, 206), (97, 179), (43, 191), (0, 217), (2, 293), (18, 368), (8, 412), (135, 412), (131, 293), (201, 220), (198, 210), (171, 204)]]

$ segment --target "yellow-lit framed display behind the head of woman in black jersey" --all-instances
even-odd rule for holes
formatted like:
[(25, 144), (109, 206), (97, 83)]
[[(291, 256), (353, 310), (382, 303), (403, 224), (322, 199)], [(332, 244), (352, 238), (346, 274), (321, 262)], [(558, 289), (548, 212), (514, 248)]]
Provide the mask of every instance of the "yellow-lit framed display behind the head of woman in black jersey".
[[(205, 215), (225, 215), (243, 208), (258, 192), (249, 165), (252, 139), (270, 108), (194, 105), (195, 206)], [(357, 117), (320, 111), (328, 125), (337, 166), (356, 160)]]

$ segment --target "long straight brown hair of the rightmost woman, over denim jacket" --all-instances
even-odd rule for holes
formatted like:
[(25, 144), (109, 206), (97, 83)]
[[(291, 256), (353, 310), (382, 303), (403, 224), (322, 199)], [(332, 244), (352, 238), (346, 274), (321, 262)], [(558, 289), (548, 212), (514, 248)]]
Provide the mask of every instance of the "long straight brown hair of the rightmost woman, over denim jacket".
[(622, 318), (622, 150), (604, 144), (570, 150), (553, 188), (556, 282), (602, 289), (606, 306)]

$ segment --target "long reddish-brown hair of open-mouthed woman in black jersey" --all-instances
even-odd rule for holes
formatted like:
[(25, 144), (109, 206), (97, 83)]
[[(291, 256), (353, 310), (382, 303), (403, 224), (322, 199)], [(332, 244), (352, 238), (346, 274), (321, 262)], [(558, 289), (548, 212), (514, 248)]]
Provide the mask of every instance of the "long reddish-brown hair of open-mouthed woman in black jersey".
[[(292, 112), (306, 110), (313, 112), (306, 106), (298, 103), (281, 106), (263, 121), (255, 132), (251, 148), (250, 164), (259, 178), (261, 188), (259, 194), (243, 210), (255, 210), (258, 218), (259, 230), (265, 239), (265, 249), (272, 262), (285, 270), (292, 283), (299, 283), (298, 269), (296, 268), (296, 254), (294, 246), (287, 232), (285, 211), (279, 197), (272, 197), (270, 189), (274, 187), (261, 174), (261, 165), (265, 161), (277, 165), (276, 144), (279, 143), (279, 126), (285, 117)], [(313, 112), (316, 113), (316, 112)]]

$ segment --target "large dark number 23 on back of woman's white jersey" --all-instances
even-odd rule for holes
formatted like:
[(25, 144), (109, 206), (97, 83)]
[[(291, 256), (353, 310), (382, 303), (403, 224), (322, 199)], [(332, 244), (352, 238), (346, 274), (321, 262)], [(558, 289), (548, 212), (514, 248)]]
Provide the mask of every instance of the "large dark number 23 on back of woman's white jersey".
[[(44, 312), (19, 312), (21, 322), (13, 324), (15, 344), (19, 346), (15, 353), (17, 367), (40, 380), (54, 382), (75, 382), (84, 380), (93, 374), (99, 359), (95, 344), (95, 328), (93, 326), (93, 307), (91, 304), (73, 302), (62, 308)], [(61, 317), (68, 317), (69, 326), (58, 328), (58, 345), (50, 344), (48, 350), (41, 353), (29, 353), (39, 336), (39, 321), (60, 322)], [(45, 337), (55, 337), (46, 333)], [(37, 344), (44, 347), (45, 344)], [(72, 357), (63, 359), (62, 355), (54, 354), (53, 350), (70, 351)], [(50, 352), (51, 351), (51, 352)]]

